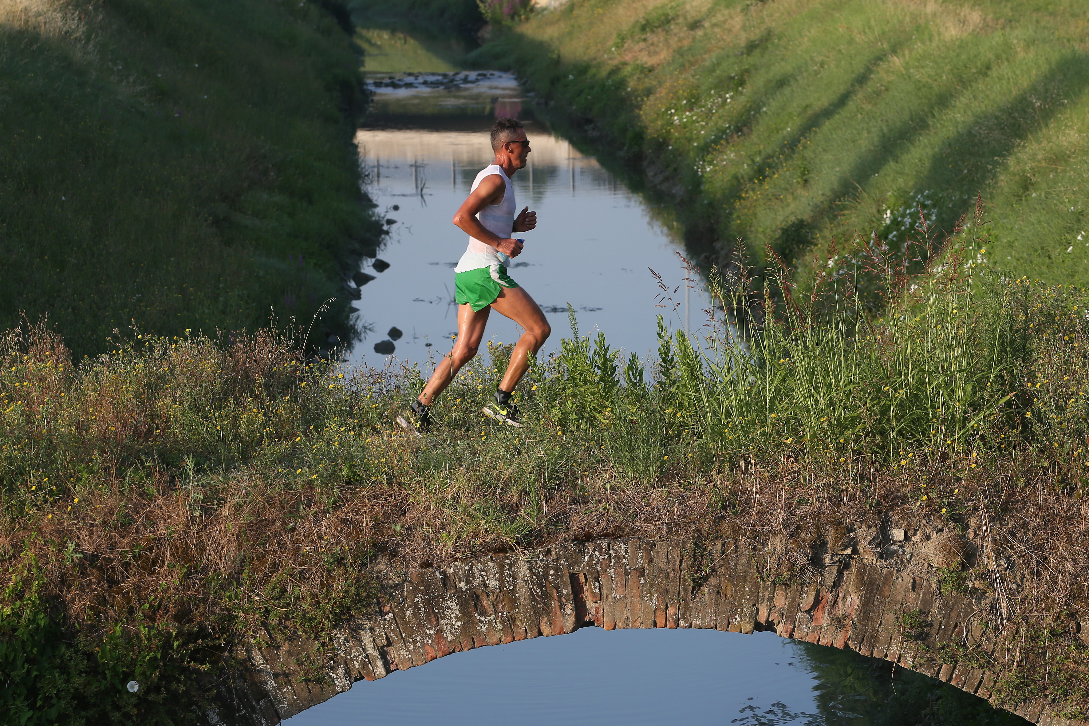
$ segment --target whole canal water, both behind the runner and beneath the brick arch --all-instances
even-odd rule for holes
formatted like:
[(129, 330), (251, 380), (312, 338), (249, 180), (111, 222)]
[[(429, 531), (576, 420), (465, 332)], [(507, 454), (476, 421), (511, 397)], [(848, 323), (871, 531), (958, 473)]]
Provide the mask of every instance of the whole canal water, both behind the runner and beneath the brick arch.
[[(449, 350), (456, 331), (453, 267), (466, 245), (451, 218), (490, 162), (488, 130), (502, 116), (523, 120), (531, 140), (529, 164), (513, 182), (519, 208), (538, 212), (538, 227), (522, 235), (525, 251), (510, 271), (552, 322), (544, 354), (570, 335), (568, 306), (582, 332), (601, 330), (614, 348), (639, 355), (657, 347), (659, 313), (673, 328), (701, 325), (708, 299), (698, 274), (682, 262), (668, 209), (650, 206), (552, 133), (513, 75), (458, 71), (412, 42), (395, 33), (368, 36), (368, 52), (380, 57), (383, 69), (395, 69), (397, 58), (409, 59), (405, 65), (412, 67), (370, 74), (371, 112), (356, 135), (367, 190), (390, 238), (357, 275), (364, 284), (356, 322), (366, 335), (348, 365), (408, 365), (427, 374)], [(501, 316), (489, 320), (486, 340), (513, 342), (517, 335)], [(910, 672), (896, 669), (893, 677), (857, 654), (772, 633), (588, 627), (457, 653), (356, 684), (289, 723), (1027, 722)]]

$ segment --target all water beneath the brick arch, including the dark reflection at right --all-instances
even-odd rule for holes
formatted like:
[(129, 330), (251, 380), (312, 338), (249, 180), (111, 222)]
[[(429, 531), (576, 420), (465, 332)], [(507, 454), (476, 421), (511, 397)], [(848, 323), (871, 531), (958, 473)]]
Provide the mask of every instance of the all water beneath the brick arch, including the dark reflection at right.
[(393, 673), (292, 726), (736, 724), (1028, 726), (933, 678), (848, 650), (717, 630), (583, 628)]

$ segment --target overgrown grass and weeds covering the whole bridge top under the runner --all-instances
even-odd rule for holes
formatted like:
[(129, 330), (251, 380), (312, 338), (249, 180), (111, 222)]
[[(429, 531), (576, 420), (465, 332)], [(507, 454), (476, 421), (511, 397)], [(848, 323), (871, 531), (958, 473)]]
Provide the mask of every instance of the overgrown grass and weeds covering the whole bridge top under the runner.
[[(980, 244), (951, 254), (974, 259), (956, 248)], [(823, 305), (774, 273), (762, 290), (735, 276), (714, 281), (720, 306), (764, 310), (748, 347), (715, 313), (693, 336), (663, 323), (640, 360), (572, 316), (518, 391), (526, 428), (479, 414), (509, 355), (492, 346), (423, 441), (393, 420), (417, 372), (302, 365), (298, 341), (276, 331), (130, 331), (83, 362), (44, 327), (10, 331), (11, 709), (172, 723), (178, 702), (212, 692), (232, 643), (302, 631), (319, 656), (331, 624), (371, 606), (375, 558), (745, 537), (771, 543), (770, 576), (804, 578), (853, 529), (922, 520), (987, 532), (976, 564), (954, 554), (927, 571), (1004, 596), (987, 619), (1021, 645), (987, 664), (1002, 702), (1084, 714), (1089, 647), (1070, 623), (1089, 606), (1089, 293), (959, 263), (909, 278), (874, 245), (856, 254), (883, 270), (880, 318), (842, 275), (816, 288)], [(835, 298), (837, 316), (811, 315)]]

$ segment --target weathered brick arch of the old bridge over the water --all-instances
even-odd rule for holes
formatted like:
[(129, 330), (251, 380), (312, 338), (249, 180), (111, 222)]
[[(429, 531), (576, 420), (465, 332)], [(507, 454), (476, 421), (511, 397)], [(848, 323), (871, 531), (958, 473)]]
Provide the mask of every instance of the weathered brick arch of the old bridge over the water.
[[(923, 561), (932, 563), (949, 549), (942, 533), (877, 533), (870, 538), (876, 551), (859, 546), (858, 539), (839, 554), (822, 555), (809, 577), (785, 581), (771, 575), (774, 547), (725, 540), (565, 543), (412, 571), (388, 580), (380, 613), (342, 624), (332, 633), (333, 652), (319, 661), (315, 644), (305, 641), (242, 649), (243, 672), (220, 689), (221, 706), (208, 721), (271, 726), (358, 680), (585, 626), (771, 630), (894, 661), (991, 698), (994, 674), (919, 654), (920, 640), (967, 639), (975, 653), (999, 645), (982, 628), (991, 603), (943, 595), (933, 577), (925, 576), (932, 570)], [(904, 613), (917, 614), (910, 632)], [(1021, 704), (1016, 713), (1049, 726), (1087, 723), (1061, 718), (1043, 702)]]

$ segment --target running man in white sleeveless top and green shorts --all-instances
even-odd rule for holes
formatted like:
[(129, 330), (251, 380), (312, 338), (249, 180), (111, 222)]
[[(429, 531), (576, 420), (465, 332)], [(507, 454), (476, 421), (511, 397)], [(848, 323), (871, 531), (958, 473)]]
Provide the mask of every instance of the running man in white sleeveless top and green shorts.
[(468, 198), (454, 214), (454, 224), (469, 235), (469, 246), (454, 268), (457, 302), (457, 339), (454, 348), (439, 361), (431, 380), (409, 409), (409, 421), (418, 430), (431, 423), (431, 404), (446, 390), (454, 376), (477, 354), (492, 308), (518, 323), (525, 331), (511, 354), (506, 373), (495, 391), (495, 403), (484, 413), (504, 423), (522, 426), (518, 408), (511, 401), (514, 386), (529, 368), (529, 353), (537, 353), (552, 328), (544, 313), (525, 290), (506, 274), (506, 263), (522, 254), (522, 242), (512, 233), (537, 226), (537, 212), (525, 207), (515, 216), (511, 177), (526, 165), (529, 139), (522, 123), (500, 119), (491, 127), (494, 161), (473, 182)]

